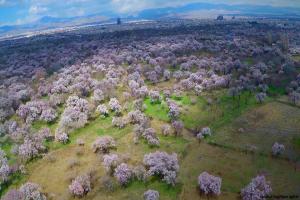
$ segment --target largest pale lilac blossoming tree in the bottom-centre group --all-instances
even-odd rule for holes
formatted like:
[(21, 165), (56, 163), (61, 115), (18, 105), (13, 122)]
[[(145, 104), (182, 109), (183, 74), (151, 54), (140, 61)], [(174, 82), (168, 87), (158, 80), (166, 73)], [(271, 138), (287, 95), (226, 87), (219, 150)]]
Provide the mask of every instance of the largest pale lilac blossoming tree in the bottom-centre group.
[(147, 175), (162, 176), (167, 184), (175, 185), (177, 172), (179, 171), (177, 154), (167, 154), (166, 152), (156, 151), (144, 156), (144, 164)]

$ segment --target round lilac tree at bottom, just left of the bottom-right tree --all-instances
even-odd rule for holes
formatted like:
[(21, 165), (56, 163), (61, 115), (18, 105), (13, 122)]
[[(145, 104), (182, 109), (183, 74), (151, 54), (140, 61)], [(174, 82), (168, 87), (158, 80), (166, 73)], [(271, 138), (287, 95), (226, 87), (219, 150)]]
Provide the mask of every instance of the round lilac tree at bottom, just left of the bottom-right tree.
[(202, 172), (198, 177), (200, 191), (205, 195), (220, 195), (222, 179), (207, 172)]

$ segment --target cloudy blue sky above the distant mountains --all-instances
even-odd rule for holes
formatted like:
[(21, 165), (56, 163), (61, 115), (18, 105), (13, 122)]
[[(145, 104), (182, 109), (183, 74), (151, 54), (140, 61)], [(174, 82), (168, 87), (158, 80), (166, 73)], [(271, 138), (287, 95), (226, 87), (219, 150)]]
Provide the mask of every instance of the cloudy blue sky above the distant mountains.
[(0, 0), (0, 25), (29, 23), (43, 16), (73, 17), (109, 11), (126, 15), (192, 2), (300, 8), (300, 0)]

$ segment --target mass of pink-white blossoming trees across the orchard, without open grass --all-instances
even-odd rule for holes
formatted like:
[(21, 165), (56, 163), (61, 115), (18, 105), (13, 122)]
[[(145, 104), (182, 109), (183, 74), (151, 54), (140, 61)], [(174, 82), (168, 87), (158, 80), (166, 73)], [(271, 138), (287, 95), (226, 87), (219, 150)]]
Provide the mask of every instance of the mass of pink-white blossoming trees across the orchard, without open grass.
[[(257, 102), (263, 103), (272, 76), (289, 74), (295, 69), (295, 62), (286, 55), (284, 40), (271, 42), (278, 45), (268, 45), (269, 40), (263, 43), (266, 39), (262, 37), (263, 29), (249, 32), (244, 31), (245, 27), (240, 22), (231, 28), (209, 26), (205, 31), (200, 26), (188, 30), (178, 27), (180, 32), (176, 34), (170, 34), (168, 28), (142, 34), (132, 31), (132, 37), (119, 37), (114, 32), (100, 38), (93, 34), (80, 38), (71, 34), (62, 43), (59, 37), (47, 41), (37, 37), (19, 41), (31, 45), (12, 44), (13, 50), (10, 45), (0, 45), (0, 52), (6, 52), (5, 56), (0, 54), (0, 136), (14, 143), (11, 153), (22, 161), (12, 170), (7, 153), (0, 149), (1, 183), (7, 182), (12, 173), (23, 171), (27, 161), (47, 153), (45, 141), (55, 139), (66, 144), (75, 129), (99, 115), (112, 117), (112, 125), (120, 129), (132, 124), (135, 144), (142, 140), (151, 147), (159, 147), (160, 133), (144, 112), (147, 98), (153, 105), (167, 107), (169, 121), (161, 126), (164, 136), (180, 136), (184, 131), (181, 106), (174, 100), (183, 93), (202, 95), (226, 88), (232, 98), (239, 100), (243, 92), (249, 91)], [(216, 30), (226, 37), (230, 30), (239, 39), (219, 37)], [(283, 34), (282, 30), (274, 31)], [(286, 31), (295, 43), (297, 32)], [(199, 56), (202, 51), (210, 56)], [(248, 56), (257, 61), (244, 62)], [(299, 75), (294, 78), (287, 93), (294, 104), (299, 104), (300, 78)], [(155, 87), (168, 81), (172, 84), (167, 88)], [(37, 131), (33, 129), (35, 123), (57, 123), (57, 128)], [(211, 134), (211, 129), (204, 127), (197, 138), (202, 140)], [(149, 153), (144, 156), (143, 164), (130, 166), (120, 155), (111, 153), (116, 147), (117, 142), (111, 136), (99, 137), (92, 145), (95, 153), (104, 154), (104, 168), (120, 185), (150, 176), (158, 176), (172, 186), (176, 184), (179, 164), (175, 153)], [(278, 142), (270, 147), (274, 156), (284, 150), (285, 146)], [(90, 174), (76, 177), (69, 186), (70, 192), (78, 197), (86, 195), (92, 190), (91, 179)], [(220, 177), (207, 172), (198, 177), (199, 189), (205, 195), (219, 195), (221, 183)], [(34, 183), (27, 183), (8, 192), (5, 198), (45, 199), (40, 189)], [(245, 200), (260, 199), (270, 192), (264, 176), (258, 176), (241, 195)], [(159, 193), (148, 190), (144, 198), (158, 199)]]

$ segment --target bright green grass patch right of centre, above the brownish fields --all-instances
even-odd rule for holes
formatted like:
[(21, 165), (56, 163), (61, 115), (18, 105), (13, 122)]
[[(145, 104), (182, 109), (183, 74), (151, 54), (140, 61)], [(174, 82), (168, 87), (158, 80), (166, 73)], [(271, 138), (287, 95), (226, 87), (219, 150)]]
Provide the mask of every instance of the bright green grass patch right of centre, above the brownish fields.
[[(208, 99), (212, 103), (208, 103)], [(253, 94), (244, 92), (240, 98), (232, 98), (226, 90), (220, 90), (197, 97), (196, 104), (186, 107), (181, 119), (188, 129), (209, 126), (216, 130), (255, 106), (258, 104)]]

